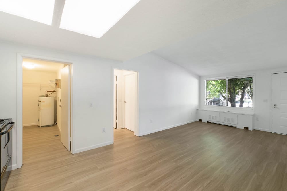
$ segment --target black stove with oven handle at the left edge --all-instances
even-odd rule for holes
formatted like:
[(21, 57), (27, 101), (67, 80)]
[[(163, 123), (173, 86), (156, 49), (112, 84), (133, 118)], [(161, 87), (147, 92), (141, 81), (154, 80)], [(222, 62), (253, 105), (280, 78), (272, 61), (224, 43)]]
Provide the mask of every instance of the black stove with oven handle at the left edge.
[(0, 119), (0, 156), (1, 156), (1, 191), (4, 190), (12, 170), (12, 133), (15, 122), (12, 119)]

